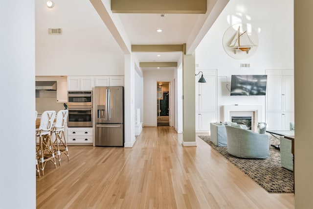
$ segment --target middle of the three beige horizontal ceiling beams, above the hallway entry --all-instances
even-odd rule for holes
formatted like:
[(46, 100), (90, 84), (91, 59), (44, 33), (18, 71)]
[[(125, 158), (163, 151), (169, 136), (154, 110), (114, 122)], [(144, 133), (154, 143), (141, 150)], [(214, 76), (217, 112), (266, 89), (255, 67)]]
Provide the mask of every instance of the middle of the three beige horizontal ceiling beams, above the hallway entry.
[(185, 52), (184, 45), (132, 45), (132, 52)]

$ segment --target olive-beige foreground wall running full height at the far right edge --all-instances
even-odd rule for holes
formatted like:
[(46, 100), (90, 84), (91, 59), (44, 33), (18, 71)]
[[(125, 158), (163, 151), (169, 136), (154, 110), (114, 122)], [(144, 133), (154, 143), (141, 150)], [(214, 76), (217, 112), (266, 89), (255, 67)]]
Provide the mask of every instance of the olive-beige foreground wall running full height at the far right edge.
[(294, 186), (296, 209), (309, 209), (313, 206), (312, 11), (312, 0), (294, 1)]

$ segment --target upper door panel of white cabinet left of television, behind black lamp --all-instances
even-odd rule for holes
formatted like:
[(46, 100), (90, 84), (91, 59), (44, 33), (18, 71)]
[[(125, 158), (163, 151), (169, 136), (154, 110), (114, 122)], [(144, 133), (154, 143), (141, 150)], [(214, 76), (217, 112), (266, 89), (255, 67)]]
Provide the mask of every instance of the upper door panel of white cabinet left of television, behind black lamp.
[(217, 85), (216, 76), (203, 76), (206, 83), (200, 83), (200, 107), (201, 112), (213, 112), (217, 111)]

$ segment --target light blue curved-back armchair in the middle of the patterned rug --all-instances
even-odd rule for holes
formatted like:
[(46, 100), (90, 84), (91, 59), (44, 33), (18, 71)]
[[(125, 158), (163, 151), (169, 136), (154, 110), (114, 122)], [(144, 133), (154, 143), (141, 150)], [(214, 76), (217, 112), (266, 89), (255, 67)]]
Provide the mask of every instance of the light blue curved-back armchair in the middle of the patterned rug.
[(268, 158), (268, 135), (234, 126), (225, 126), (227, 152), (240, 158)]

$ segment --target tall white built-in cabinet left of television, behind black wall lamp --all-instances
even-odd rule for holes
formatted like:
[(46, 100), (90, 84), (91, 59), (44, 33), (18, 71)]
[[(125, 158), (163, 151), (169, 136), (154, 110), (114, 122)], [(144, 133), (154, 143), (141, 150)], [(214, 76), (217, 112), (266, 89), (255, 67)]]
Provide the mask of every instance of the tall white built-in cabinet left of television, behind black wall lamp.
[(201, 73), (196, 76), (196, 132), (209, 132), (210, 122), (217, 121), (217, 70), (199, 71), (206, 83), (198, 83)]

